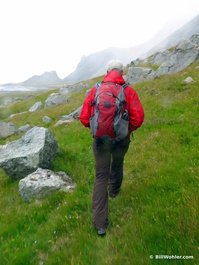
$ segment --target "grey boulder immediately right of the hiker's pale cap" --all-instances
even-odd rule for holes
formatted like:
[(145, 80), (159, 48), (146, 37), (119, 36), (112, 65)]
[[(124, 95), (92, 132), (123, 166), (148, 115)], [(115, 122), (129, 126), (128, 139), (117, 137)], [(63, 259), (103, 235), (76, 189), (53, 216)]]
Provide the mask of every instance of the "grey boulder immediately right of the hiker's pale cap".
[(155, 72), (147, 67), (129, 67), (125, 76), (126, 82), (137, 84), (146, 80), (155, 79)]

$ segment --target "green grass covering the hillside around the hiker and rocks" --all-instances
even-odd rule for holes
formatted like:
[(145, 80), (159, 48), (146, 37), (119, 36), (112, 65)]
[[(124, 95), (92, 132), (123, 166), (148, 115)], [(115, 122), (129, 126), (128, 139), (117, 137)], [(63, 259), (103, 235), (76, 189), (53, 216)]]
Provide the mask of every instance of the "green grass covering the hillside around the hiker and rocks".
[[(134, 133), (125, 156), (121, 193), (109, 201), (104, 238), (97, 236), (92, 224), (95, 162), (90, 132), (79, 121), (54, 126), (61, 115), (83, 103), (86, 89), (68, 94), (66, 104), (12, 119), (10, 114), (27, 111), (51, 92), (0, 109), (0, 119), (17, 127), (29, 123), (49, 128), (61, 149), (53, 170), (65, 171), (77, 183), (74, 193), (54, 193), (26, 203), (18, 191), (19, 181), (0, 170), (2, 265), (198, 264), (198, 65), (197, 61), (178, 74), (134, 87), (145, 110), (145, 121)], [(185, 84), (187, 76), (195, 82)], [(90, 87), (99, 80), (89, 80)], [(43, 123), (44, 115), (52, 118), (51, 124)], [(0, 144), (19, 137), (0, 140)], [(155, 255), (194, 259), (158, 260)]]

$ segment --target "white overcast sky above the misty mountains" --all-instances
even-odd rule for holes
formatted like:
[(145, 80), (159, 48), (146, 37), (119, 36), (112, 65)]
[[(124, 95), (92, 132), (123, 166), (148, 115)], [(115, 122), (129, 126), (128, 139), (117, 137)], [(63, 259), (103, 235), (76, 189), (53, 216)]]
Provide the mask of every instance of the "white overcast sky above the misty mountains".
[(198, 0), (0, 0), (0, 84), (64, 78), (83, 55), (133, 47), (198, 14)]

